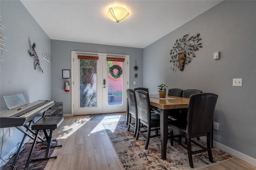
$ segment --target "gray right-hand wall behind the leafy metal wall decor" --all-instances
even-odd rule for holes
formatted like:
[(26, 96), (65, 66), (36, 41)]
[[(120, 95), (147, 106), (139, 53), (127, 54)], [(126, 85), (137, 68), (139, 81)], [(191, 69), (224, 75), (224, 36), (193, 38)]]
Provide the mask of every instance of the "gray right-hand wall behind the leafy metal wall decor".
[[(161, 83), (218, 94), (214, 121), (219, 130), (214, 130), (214, 141), (252, 158), (256, 158), (255, 7), (256, 1), (223, 1), (143, 51), (143, 84), (151, 94), (158, 93)], [(170, 50), (187, 33), (200, 33), (203, 48), (184, 71), (174, 72)], [(220, 60), (213, 59), (217, 51)], [(232, 78), (243, 78), (243, 86), (233, 87)]]

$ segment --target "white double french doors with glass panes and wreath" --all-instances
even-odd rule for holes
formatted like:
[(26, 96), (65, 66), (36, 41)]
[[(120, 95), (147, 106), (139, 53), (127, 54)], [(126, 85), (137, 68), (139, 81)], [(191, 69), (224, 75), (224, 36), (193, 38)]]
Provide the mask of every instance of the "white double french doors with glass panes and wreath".
[(126, 111), (128, 55), (71, 52), (72, 115)]

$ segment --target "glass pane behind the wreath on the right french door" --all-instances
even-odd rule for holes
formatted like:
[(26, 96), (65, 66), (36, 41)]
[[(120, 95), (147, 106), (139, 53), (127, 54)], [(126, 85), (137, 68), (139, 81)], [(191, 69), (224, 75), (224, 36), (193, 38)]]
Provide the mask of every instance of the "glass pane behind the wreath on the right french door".
[[(108, 70), (111, 66), (118, 65), (123, 70), (123, 62), (108, 61)], [(114, 75), (118, 73), (117, 69), (113, 70)], [(108, 73), (108, 106), (123, 105), (123, 74), (120, 78), (112, 78)]]

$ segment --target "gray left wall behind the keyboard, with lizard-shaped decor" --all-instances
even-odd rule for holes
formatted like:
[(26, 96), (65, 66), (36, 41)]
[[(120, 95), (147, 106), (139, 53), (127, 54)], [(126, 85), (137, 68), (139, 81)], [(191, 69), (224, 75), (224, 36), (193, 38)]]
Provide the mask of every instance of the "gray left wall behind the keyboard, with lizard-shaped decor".
[[(22, 93), (28, 103), (36, 100), (50, 100), (51, 97), (51, 66), (42, 59), (42, 53), (50, 53), (50, 38), (44, 33), (38, 23), (28, 13), (20, 1), (0, 2), (2, 24), (6, 27), (3, 35), (8, 52), (1, 55), (0, 72), (0, 101), (1, 113), (7, 110), (3, 96)], [(41, 68), (34, 70), (34, 57), (28, 55), (28, 49), (36, 43)], [(13, 128), (13, 135), (9, 137), (9, 128), (0, 129), (0, 139), (4, 136), (2, 155), (4, 158), (12, 149), (16, 148), (23, 137), (22, 133)]]

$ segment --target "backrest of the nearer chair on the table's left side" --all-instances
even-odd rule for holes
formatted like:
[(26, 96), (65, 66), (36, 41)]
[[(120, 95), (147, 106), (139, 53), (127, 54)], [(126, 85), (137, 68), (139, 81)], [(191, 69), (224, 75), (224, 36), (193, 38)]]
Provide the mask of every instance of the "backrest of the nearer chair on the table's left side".
[(135, 96), (137, 102), (138, 119), (144, 121), (145, 123), (150, 122), (151, 112), (148, 92), (144, 90), (135, 90)]

